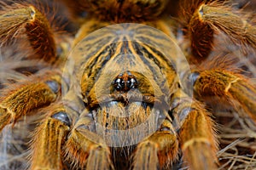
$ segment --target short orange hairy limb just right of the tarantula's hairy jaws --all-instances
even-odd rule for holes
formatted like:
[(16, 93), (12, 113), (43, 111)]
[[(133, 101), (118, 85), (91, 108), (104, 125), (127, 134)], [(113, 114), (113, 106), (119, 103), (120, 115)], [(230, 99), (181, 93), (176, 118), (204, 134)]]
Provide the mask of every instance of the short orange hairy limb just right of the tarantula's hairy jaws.
[(177, 135), (172, 123), (166, 119), (159, 131), (137, 145), (132, 157), (132, 167), (133, 169), (168, 168), (172, 166), (173, 161), (176, 161), (177, 150)]

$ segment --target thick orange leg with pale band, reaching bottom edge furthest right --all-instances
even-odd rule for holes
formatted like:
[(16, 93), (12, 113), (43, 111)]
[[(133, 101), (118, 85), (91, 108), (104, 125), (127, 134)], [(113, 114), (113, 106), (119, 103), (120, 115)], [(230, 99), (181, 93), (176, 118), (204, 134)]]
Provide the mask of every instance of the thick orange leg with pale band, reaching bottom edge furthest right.
[(189, 111), (180, 132), (184, 160), (188, 161), (191, 169), (217, 169), (212, 121), (207, 111), (200, 106), (195, 107)]

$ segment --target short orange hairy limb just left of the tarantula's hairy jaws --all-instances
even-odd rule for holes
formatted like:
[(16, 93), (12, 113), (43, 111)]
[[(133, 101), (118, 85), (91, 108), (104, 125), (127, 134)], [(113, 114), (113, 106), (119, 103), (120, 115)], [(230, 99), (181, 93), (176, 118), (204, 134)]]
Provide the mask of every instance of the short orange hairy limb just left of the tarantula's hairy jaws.
[(68, 136), (66, 160), (82, 169), (113, 169), (110, 149), (100, 136), (90, 131), (92, 124), (92, 115), (85, 110)]

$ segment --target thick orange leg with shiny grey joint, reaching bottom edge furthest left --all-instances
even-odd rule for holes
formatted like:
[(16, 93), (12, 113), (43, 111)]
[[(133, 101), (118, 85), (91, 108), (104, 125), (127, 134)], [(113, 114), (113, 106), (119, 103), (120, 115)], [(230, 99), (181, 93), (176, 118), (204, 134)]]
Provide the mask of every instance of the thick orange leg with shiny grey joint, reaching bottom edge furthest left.
[(63, 169), (62, 146), (71, 121), (62, 105), (51, 105), (32, 141), (31, 169)]

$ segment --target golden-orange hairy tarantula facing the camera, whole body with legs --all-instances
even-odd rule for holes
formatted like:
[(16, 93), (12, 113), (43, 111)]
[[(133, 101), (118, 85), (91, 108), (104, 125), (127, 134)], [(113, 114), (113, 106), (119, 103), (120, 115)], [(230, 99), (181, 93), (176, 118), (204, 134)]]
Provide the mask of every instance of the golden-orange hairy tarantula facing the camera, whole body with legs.
[(2, 76), (0, 131), (29, 124), (29, 168), (169, 169), (178, 156), (218, 168), (205, 105), (256, 122), (253, 71), (227, 59), (253, 53), (256, 27), (230, 3), (182, 0), (170, 17), (170, 2), (63, 0), (76, 36), (55, 34), (30, 3), (3, 3), (3, 65), (15, 73)]

